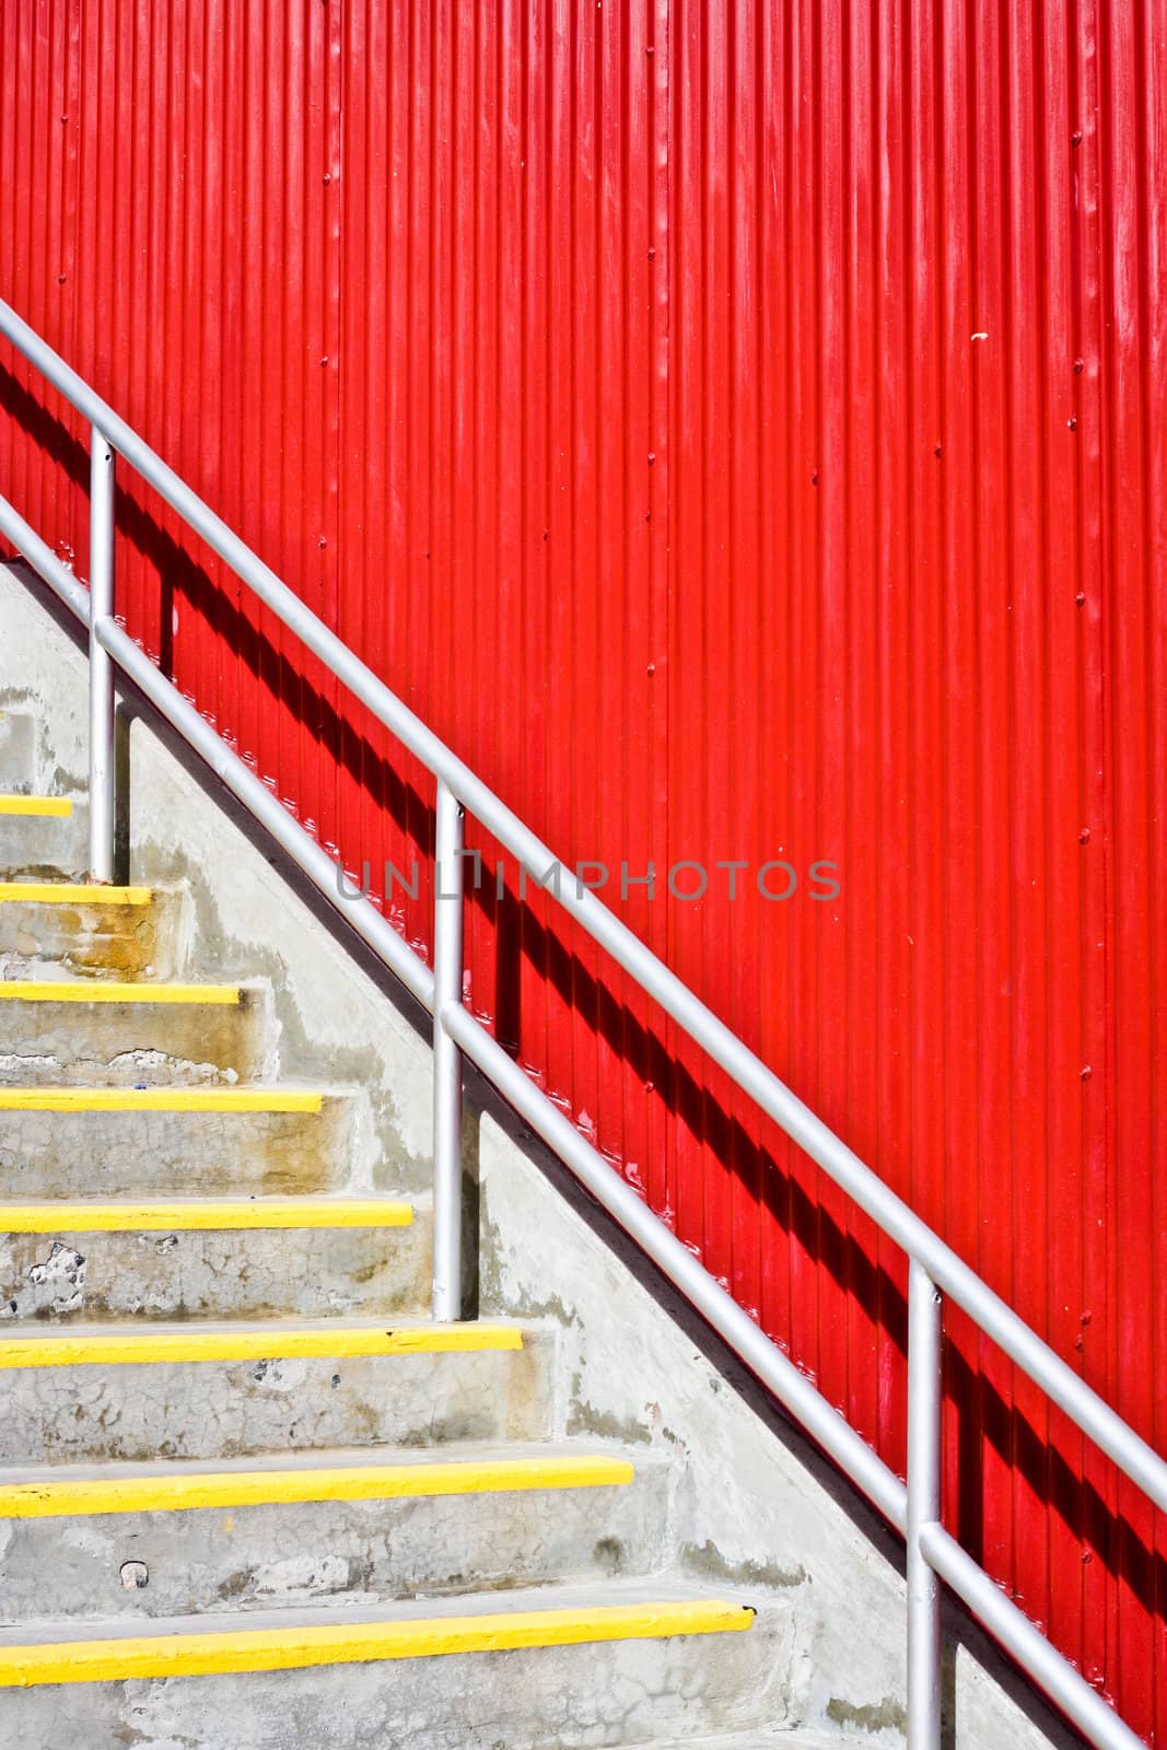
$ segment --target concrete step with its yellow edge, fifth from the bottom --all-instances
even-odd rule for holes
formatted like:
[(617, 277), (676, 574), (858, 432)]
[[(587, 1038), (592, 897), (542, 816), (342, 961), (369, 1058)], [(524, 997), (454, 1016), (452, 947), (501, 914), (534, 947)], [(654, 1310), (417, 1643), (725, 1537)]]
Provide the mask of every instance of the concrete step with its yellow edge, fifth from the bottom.
[(311, 1195), (350, 1178), (355, 1106), (289, 1087), (0, 1088), (0, 1197)]

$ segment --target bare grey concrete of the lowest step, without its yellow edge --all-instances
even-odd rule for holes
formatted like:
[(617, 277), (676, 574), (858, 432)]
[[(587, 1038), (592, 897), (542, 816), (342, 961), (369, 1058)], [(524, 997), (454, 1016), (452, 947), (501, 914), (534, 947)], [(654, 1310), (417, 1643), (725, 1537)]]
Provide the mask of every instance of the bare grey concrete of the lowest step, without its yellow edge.
[[(675, 1586), (611, 1582), (373, 1606), (353, 1620), (562, 1610), (696, 1596)], [(710, 1596), (724, 1598), (724, 1592)], [(248, 1615), (247, 1626), (338, 1620), (341, 1612)], [(154, 1629), (182, 1629), (173, 1619)], [(205, 1628), (229, 1626), (229, 1619)], [(72, 1624), (79, 1638), (91, 1626)], [(110, 1633), (140, 1633), (136, 1622)], [(0, 1629), (0, 1645), (12, 1631)], [(21, 1642), (24, 1636), (19, 1636)], [(47, 1638), (47, 1636), (45, 1636)], [(63, 1636), (61, 1636), (63, 1638)], [(744, 1634), (609, 1642), (402, 1659), (315, 1671), (86, 1684), (0, 1692), (0, 1731), (21, 1750), (597, 1750), (646, 1732), (742, 1729), (782, 1718), (794, 1654), (789, 1606), (766, 1606)]]

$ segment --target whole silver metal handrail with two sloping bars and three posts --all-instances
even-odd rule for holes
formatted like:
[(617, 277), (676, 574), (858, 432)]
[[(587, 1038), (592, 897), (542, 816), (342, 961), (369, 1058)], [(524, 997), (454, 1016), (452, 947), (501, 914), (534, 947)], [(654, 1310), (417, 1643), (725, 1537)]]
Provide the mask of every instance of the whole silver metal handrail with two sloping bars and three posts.
[(908, 1486), (721, 1288), (675, 1234), (637, 1197), (572, 1122), (462, 1004), (462, 821), (472, 814), (535, 878), (560, 868), (548, 845), (331, 632), (311, 609), (206, 506), (191, 486), (3, 301), (0, 334), (93, 427), (91, 588), (0, 497), (0, 534), (89, 628), (91, 873), (112, 877), (110, 658), (206, 760), (217, 777), (289, 850), (332, 903), (338, 868), (311, 835), (145, 656), (114, 620), (114, 457), (121, 457), (254, 590), (261, 602), (341, 681), (437, 780), (434, 971), (362, 898), (345, 917), (434, 1017), (434, 1316), (460, 1312), (462, 1059), (467, 1057), (656, 1262), (717, 1334), (770, 1386), (789, 1414), (864, 1491), (908, 1542), (908, 1743), (940, 1746), (940, 1575), (980, 1615), (1018, 1664), (1106, 1750), (1139, 1738), (940, 1524), (943, 1295), (1057, 1404), (1118, 1468), (1167, 1510), (1167, 1461), (1118, 1416), (992, 1288), (940, 1239), (749, 1046), (721, 1022), (609, 908), (581, 884), (546, 891), (670, 1015), (684, 1032), (910, 1258)]

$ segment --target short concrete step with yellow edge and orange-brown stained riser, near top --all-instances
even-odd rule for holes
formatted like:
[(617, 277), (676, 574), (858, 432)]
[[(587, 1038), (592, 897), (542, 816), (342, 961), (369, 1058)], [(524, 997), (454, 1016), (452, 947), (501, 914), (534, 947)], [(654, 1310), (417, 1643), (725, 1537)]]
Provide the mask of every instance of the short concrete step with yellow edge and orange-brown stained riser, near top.
[(175, 978), (185, 892), (0, 880), (0, 966), (9, 978), (42, 964), (93, 978)]

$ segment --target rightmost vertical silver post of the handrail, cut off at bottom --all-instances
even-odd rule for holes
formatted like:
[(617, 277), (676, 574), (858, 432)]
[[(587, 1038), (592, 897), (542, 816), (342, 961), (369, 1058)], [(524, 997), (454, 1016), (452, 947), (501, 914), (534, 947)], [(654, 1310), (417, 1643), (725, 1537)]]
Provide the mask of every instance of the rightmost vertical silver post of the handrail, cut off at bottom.
[(908, 1750), (940, 1750), (940, 1577), (920, 1531), (940, 1522), (940, 1290), (915, 1258), (908, 1272)]

